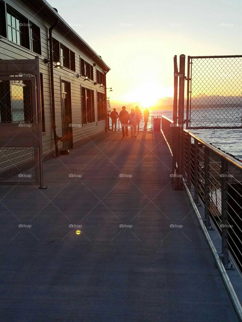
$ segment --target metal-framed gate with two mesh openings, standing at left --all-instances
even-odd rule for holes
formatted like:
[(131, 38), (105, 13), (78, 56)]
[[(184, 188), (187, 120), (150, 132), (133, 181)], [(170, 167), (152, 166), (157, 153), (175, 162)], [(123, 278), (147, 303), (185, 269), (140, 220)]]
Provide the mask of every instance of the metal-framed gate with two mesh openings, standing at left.
[(0, 66), (0, 184), (43, 188), (39, 57)]

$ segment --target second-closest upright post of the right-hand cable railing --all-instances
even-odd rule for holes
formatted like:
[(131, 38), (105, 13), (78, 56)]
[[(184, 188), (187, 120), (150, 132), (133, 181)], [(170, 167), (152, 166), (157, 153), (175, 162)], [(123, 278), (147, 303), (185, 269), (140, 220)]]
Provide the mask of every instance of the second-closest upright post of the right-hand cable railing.
[(204, 223), (207, 230), (214, 230), (210, 223), (209, 211), (209, 149), (204, 148)]

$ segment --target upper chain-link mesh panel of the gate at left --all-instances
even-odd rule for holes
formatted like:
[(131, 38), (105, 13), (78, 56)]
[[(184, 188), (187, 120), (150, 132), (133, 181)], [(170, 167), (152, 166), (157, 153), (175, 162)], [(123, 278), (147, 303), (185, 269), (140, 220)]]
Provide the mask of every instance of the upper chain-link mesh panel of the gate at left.
[(0, 123), (31, 123), (31, 81), (0, 81)]

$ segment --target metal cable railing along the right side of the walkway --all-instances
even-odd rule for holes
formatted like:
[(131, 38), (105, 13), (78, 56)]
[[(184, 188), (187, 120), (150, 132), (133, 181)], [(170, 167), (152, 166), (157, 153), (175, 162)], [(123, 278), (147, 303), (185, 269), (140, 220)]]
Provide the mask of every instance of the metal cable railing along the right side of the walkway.
[[(173, 121), (164, 116), (161, 124), (173, 153), (174, 188), (182, 180), (194, 195), (195, 204), (204, 206), (203, 222), (207, 230), (213, 230), (216, 225), (221, 235), (219, 256), (225, 269), (233, 269), (230, 252), (242, 271), (242, 163), (188, 130), (174, 126)], [(181, 169), (177, 169), (174, 141), (182, 144)]]

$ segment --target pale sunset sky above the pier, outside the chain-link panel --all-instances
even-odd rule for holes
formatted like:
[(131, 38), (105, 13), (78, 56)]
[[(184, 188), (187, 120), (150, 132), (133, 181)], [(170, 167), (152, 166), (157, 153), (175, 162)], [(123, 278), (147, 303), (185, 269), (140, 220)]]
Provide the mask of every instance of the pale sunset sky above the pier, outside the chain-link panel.
[(171, 108), (174, 55), (242, 52), (238, 0), (48, 2), (111, 68), (112, 108)]

